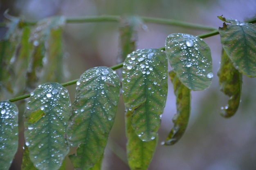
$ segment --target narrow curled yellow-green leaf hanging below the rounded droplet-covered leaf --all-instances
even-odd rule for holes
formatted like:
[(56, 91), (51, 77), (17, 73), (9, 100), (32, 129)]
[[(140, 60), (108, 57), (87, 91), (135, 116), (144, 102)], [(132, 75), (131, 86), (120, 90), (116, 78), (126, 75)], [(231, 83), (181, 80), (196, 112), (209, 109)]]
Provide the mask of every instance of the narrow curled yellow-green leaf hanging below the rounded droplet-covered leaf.
[(174, 71), (170, 71), (169, 76), (171, 77), (171, 82), (173, 83), (173, 89), (176, 96), (177, 113), (173, 117), (174, 126), (164, 142), (165, 145), (175, 144), (186, 131), (186, 127), (189, 123), (191, 103), (189, 88), (180, 82)]

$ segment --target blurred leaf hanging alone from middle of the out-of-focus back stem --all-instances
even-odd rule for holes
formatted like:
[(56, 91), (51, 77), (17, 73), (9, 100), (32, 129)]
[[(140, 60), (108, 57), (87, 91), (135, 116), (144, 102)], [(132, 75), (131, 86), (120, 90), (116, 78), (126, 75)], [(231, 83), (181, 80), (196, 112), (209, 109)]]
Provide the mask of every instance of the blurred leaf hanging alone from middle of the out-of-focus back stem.
[(126, 55), (135, 51), (137, 41), (137, 29), (142, 21), (136, 16), (123, 17), (119, 26), (119, 55), (117, 62), (124, 62)]

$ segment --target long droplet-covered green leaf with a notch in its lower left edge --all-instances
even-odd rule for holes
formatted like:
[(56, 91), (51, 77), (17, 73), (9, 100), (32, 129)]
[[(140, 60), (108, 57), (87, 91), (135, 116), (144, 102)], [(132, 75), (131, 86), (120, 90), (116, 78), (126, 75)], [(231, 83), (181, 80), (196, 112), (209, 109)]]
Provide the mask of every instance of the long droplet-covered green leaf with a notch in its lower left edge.
[(85, 71), (76, 85), (67, 139), (71, 146), (79, 146), (76, 155), (70, 156), (75, 169), (88, 170), (106, 147), (117, 112), (120, 82), (115, 71), (100, 66)]

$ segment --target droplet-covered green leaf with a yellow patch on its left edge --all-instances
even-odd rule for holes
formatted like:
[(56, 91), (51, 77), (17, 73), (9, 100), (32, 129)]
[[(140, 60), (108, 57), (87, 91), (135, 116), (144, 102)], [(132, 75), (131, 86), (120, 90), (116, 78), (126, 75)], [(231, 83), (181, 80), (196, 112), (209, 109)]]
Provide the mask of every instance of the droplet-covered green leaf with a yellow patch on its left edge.
[(70, 113), (69, 94), (58, 83), (39, 85), (30, 94), (25, 112), (25, 144), (39, 170), (58, 170), (69, 152), (65, 130)]

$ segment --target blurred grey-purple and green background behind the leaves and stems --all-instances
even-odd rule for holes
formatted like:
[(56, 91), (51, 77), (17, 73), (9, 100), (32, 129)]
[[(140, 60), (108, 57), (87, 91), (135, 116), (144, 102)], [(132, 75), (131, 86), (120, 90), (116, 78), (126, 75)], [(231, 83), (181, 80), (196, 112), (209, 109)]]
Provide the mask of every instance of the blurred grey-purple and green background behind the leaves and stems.
[[(35, 21), (52, 15), (67, 18), (90, 15), (139, 15), (169, 18), (218, 28), (217, 16), (246, 20), (256, 16), (255, 0), (1, 0), (3, 13)], [(144, 23), (147, 29), (138, 29), (137, 49), (160, 48), (171, 33), (199, 35), (205, 31), (185, 29), (164, 24)], [(66, 24), (63, 44), (66, 56), (65, 81), (77, 79), (94, 66), (117, 64), (119, 32), (117, 22)], [(0, 28), (2, 38), (6, 29)], [(219, 115), (227, 97), (219, 91), (217, 71), (221, 44), (219, 35), (204, 39), (213, 58), (213, 82), (204, 91), (192, 92), (191, 118), (182, 139), (174, 146), (160, 146), (172, 128), (175, 114), (173, 86), (169, 82), (168, 99), (159, 146), (149, 170), (256, 170), (256, 79), (243, 77), (241, 104), (236, 115), (225, 119)], [(169, 68), (171, 69), (171, 68)], [(60, 82), (62, 83), (62, 82)], [(72, 102), (75, 86), (69, 86)], [(117, 117), (110, 138), (125, 150), (124, 104), (120, 98)], [(21, 143), (24, 141), (21, 141)], [(105, 151), (102, 170), (129, 170), (111, 151)], [(114, 149), (118, 148), (114, 146)], [(19, 149), (11, 170), (20, 167), (22, 148)]]

